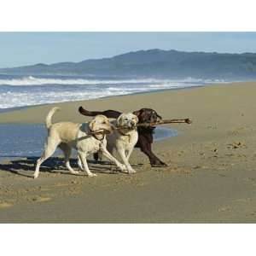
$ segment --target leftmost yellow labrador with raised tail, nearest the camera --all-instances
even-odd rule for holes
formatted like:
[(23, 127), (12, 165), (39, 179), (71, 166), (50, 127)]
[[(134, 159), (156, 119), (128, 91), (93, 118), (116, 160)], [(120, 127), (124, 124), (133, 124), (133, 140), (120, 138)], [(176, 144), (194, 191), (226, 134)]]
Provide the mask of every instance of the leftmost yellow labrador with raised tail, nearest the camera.
[(86, 156), (97, 151), (102, 152), (104, 156), (111, 160), (121, 171), (125, 171), (125, 166), (119, 163), (107, 150), (107, 140), (104, 134), (94, 134), (94, 131), (104, 130), (112, 132), (112, 125), (104, 115), (97, 115), (90, 123), (75, 124), (71, 122), (61, 122), (52, 124), (51, 119), (54, 113), (59, 108), (52, 108), (45, 120), (48, 129), (48, 137), (45, 143), (44, 154), (38, 159), (34, 178), (39, 175), (39, 168), (41, 164), (55, 153), (56, 148), (61, 148), (65, 155), (65, 164), (67, 169), (73, 173), (78, 174), (70, 166), (69, 158), (72, 148), (78, 151), (79, 166), (83, 171), (87, 172), (89, 177), (96, 176), (95, 173), (90, 172), (87, 165)]

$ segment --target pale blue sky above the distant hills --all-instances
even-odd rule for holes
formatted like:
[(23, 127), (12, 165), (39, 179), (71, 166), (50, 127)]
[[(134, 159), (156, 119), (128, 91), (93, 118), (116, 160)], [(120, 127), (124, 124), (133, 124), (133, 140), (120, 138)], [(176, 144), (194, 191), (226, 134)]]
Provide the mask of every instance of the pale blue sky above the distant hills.
[(0, 32), (0, 67), (84, 61), (140, 49), (256, 52), (256, 32)]

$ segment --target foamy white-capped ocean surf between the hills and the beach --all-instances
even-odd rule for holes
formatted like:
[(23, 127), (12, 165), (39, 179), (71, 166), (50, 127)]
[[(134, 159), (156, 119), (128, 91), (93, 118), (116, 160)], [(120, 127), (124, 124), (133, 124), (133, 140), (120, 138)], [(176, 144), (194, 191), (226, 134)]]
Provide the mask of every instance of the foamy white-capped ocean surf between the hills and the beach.
[[(0, 74), (0, 111), (54, 102), (70, 102), (220, 82), (203, 79), (120, 79), (79, 76)], [(223, 82), (223, 81), (221, 81)]]

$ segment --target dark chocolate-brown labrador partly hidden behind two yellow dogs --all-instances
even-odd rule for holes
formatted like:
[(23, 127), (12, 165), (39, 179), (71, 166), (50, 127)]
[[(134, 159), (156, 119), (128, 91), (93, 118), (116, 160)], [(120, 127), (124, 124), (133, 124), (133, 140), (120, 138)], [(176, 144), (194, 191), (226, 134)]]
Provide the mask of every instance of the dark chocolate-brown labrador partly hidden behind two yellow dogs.
[[(121, 112), (115, 110), (106, 110), (106, 111), (88, 111), (84, 108), (79, 108), (79, 113), (85, 116), (96, 116), (97, 114), (103, 114), (108, 118), (117, 119)], [(139, 122), (138, 123), (153, 123), (158, 119), (161, 119), (160, 115), (151, 108), (142, 108), (140, 110), (134, 111), (134, 114), (137, 115)], [(153, 167), (156, 166), (166, 166), (166, 164), (161, 161), (153, 152), (152, 152), (152, 143), (154, 141), (154, 127), (143, 127), (140, 126), (137, 128), (138, 132), (138, 141), (136, 148), (141, 148), (141, 151), (148, 156), (150, 165)], [(95, 159), (98, 159), (98, 154), (95, 154)]]

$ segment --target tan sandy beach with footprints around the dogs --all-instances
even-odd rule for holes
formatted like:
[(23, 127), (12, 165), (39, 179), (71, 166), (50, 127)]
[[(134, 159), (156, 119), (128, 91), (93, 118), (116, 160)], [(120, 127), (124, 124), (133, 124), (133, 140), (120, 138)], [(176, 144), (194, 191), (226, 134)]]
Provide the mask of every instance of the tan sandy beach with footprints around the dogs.
[(53, 106), (61, 107), (54, 122), (89, 120), (79, 106), (124, 112), (146, 107), (193, 124), (166, 125), (179, 135), (154, 143), (166, 168), (152, 168), (136, 148), (132, 176), (91, 161), (97, 177), (74, 176), (58, 157), (45, 162), (34, 180), (35, 158), (3, 160), (0, 223), (255, 223), (255, 95), (256, 82), (214, 84), (1, 113), (0, 124), (18, 125), (44, 123)]

